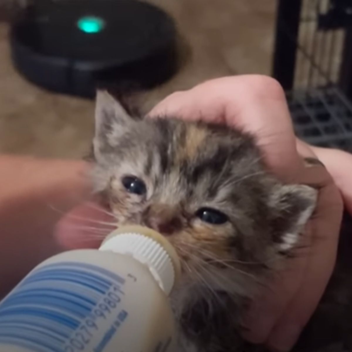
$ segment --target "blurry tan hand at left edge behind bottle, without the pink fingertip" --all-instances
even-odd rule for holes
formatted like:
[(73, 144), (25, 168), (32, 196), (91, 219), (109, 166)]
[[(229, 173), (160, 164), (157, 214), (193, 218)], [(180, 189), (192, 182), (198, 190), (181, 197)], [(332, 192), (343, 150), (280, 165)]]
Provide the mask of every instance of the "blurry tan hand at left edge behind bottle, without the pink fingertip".
[(33, 266), (62, 250), (62, 214), (90, 195), (81, 161), (0, 156), (0, 297)]

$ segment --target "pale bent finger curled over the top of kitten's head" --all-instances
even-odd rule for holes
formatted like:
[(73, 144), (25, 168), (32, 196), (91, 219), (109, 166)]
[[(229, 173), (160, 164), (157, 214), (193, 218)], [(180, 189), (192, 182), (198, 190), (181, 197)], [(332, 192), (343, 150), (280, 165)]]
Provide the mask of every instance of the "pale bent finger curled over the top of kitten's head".
[(170, 95), (150, 115), (225, 122), (256, 136), (267, 165), (292, 181), (300, 173), (292, 122), (284, 91), (258, 75), (226, 77)]

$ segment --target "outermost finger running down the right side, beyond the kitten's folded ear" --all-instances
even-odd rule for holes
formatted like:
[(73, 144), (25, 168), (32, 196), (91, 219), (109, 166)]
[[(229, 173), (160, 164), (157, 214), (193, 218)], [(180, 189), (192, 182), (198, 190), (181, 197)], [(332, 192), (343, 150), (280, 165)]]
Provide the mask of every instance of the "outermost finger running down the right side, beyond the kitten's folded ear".
[[(324, 168), (320, 169), (320, 182), (325, 187), (319, 191), (317, 215), (307, 229), (311, 234), (311, 246), (306, 256), (308, 260), (304, 276), (267, 342), (270, 348), (277, 351), (289, 351), (293, 347), (318, 305), (335, 264), (342, 201), (331, 176)], [(305, 183), (309, 184), (308, 181)]]

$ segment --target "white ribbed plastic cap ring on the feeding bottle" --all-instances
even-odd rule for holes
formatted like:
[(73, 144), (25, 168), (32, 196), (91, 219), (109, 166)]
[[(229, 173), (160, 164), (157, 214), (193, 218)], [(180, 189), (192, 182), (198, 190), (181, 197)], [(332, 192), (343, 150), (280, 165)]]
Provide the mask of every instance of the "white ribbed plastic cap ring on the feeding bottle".
[[(166, 295), (169, 295), (176, 278), (174, 258), (168, 251), (142, 231), (112, 232), (100, 246), (100, 250), (129, 254), (140, 263), (145, 264)], [(141, 233), (142, 232), (142, 233)]]

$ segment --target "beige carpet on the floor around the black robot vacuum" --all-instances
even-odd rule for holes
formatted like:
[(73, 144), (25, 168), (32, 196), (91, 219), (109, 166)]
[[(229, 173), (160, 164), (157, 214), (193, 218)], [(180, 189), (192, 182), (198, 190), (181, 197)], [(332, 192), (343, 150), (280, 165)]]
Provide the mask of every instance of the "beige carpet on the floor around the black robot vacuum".
[[(150, 0), (176, 20), (189, 55), (169, 82), (145, 95), (146, 108), (213, 77), (270, 74), (275, 0)], [(0, 152), (80, 158), (93, 134), (93, 103), (33, 86), (13, 69), (0, 24)]]

